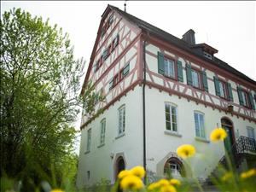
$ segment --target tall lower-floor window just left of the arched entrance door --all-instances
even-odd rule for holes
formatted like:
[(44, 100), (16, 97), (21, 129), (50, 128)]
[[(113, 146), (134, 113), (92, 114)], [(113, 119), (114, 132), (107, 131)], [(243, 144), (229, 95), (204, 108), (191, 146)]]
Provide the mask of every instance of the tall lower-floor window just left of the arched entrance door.
[(195, 119), (195, 136), (205, 138), (205, 119), (204, 114), (200, 112), (194, 113)]

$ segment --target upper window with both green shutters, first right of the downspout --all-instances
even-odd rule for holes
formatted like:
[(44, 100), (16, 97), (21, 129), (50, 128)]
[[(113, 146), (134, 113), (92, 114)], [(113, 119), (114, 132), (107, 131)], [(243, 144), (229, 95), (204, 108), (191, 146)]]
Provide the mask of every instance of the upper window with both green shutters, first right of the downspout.
[(181, 61), (169, 59), (167, 55), (158, 52), (158, 73), (183, 82), (183, 65)]

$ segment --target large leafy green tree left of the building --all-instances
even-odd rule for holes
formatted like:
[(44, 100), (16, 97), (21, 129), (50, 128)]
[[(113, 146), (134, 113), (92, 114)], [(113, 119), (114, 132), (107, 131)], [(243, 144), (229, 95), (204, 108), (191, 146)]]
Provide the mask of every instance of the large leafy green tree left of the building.
[(61, 29), (20, 9), (3, 14), (0, 30), (1, 176), (37, 185), (72, 153), (84, 61)]

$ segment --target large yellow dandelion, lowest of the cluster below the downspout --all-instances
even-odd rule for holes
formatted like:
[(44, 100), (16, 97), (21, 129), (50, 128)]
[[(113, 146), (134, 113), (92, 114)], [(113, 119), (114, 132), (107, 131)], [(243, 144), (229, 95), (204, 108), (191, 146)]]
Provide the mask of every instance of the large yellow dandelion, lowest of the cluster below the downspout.
[(142, 179), (140, 179), (137, 176), (128, 175), (128, 176), (124, 177), (121, 180), (120, 186), (121, 186), (121, 189), (124, 189), (124, 190), (142, 189), (143, 188), (143, 181), (142, 181)]

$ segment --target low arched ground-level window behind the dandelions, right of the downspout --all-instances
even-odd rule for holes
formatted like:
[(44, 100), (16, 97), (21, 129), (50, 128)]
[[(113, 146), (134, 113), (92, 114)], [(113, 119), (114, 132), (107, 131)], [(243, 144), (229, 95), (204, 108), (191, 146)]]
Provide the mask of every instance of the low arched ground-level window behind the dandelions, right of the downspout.
[(185, 177), (183, 163), (176, 157), (171, 157), (169, 160), (166, 161), (164, 173), (171, 173), (173, 177)]

